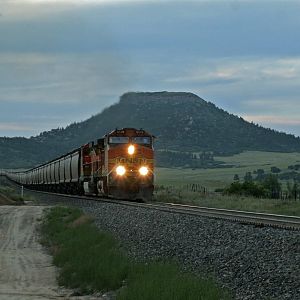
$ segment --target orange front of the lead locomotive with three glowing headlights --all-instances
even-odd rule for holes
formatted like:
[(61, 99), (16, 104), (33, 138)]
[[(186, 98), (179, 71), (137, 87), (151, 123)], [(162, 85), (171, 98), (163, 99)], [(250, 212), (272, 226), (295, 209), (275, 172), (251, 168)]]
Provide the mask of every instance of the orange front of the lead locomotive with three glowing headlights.
[(114, 130), (105, 139), (108, 193), (116, 198), (150, 199), (154, 188), (154, 136), (124, 128)]

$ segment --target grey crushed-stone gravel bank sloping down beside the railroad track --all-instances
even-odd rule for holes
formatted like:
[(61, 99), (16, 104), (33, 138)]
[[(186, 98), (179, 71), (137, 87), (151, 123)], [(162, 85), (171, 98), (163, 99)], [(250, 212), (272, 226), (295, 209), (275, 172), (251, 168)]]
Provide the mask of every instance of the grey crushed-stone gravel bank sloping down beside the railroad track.
[(299, 231), (52, 195), (38, 198), (80, 206), (133, 258), (176, 258), (185, 268), (214, 274), (235, 299), (300, 299)]

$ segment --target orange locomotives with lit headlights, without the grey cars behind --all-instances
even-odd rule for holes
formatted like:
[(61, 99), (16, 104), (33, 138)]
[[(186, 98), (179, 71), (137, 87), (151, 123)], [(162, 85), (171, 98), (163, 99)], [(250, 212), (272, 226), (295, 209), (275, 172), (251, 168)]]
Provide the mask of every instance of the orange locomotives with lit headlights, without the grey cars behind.
[(147, 200), (153, 194), (154, 137), (144, 130), (116, 129), (81, 148), (86, 194)]

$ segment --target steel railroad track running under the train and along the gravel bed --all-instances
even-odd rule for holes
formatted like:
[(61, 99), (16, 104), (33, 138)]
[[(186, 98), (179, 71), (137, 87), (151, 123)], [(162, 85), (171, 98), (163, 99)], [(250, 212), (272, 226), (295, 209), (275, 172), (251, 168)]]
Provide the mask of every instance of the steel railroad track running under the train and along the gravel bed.
[(229, 210), (221, 208), (210, 208), (210, 207), (200, 207), (185, 204), (175, 204), (175, 203), (137, 203), (129, 202), (123, 200), (115, 200), (108, 198), (99, 198), (93, 196), (76, 196), (76, 195), (66, 195), (66, 194), (56, 194), (43, 191), (29, 190), (36, 193), (49, 194), (52, 196), (60, 196), (66, 198), (73, 198), (82, 201), (100, 201), (109, 202), (117, 205), (140, 207), (144, 209), (160, 210), (169, 213), (176, 214), (188, 214), (199, 217), (209, 217), (214, 219), (222, 219), (231, 222), (239, 222), (243, 224), (253, 224), (256, 226), (270, 226), (277, 228), (284, 228), (290, 230), (300, 230), (300, 217), (295, 216), (285, 216), (277, 214), (266, 214), (248, 211), (238, 211)]

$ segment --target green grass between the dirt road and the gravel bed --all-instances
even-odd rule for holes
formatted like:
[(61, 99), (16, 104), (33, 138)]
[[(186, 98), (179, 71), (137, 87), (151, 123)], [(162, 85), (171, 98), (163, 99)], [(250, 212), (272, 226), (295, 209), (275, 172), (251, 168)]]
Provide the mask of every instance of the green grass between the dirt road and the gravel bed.
[(81, 293), (114, 290), (122, 300), (230, 299), (213, 279), (183, 273), (174, 262), (129, 260), (118, 242), (78, 209), (52, 208), (42, 235), (60, 269), (59, 284)]

